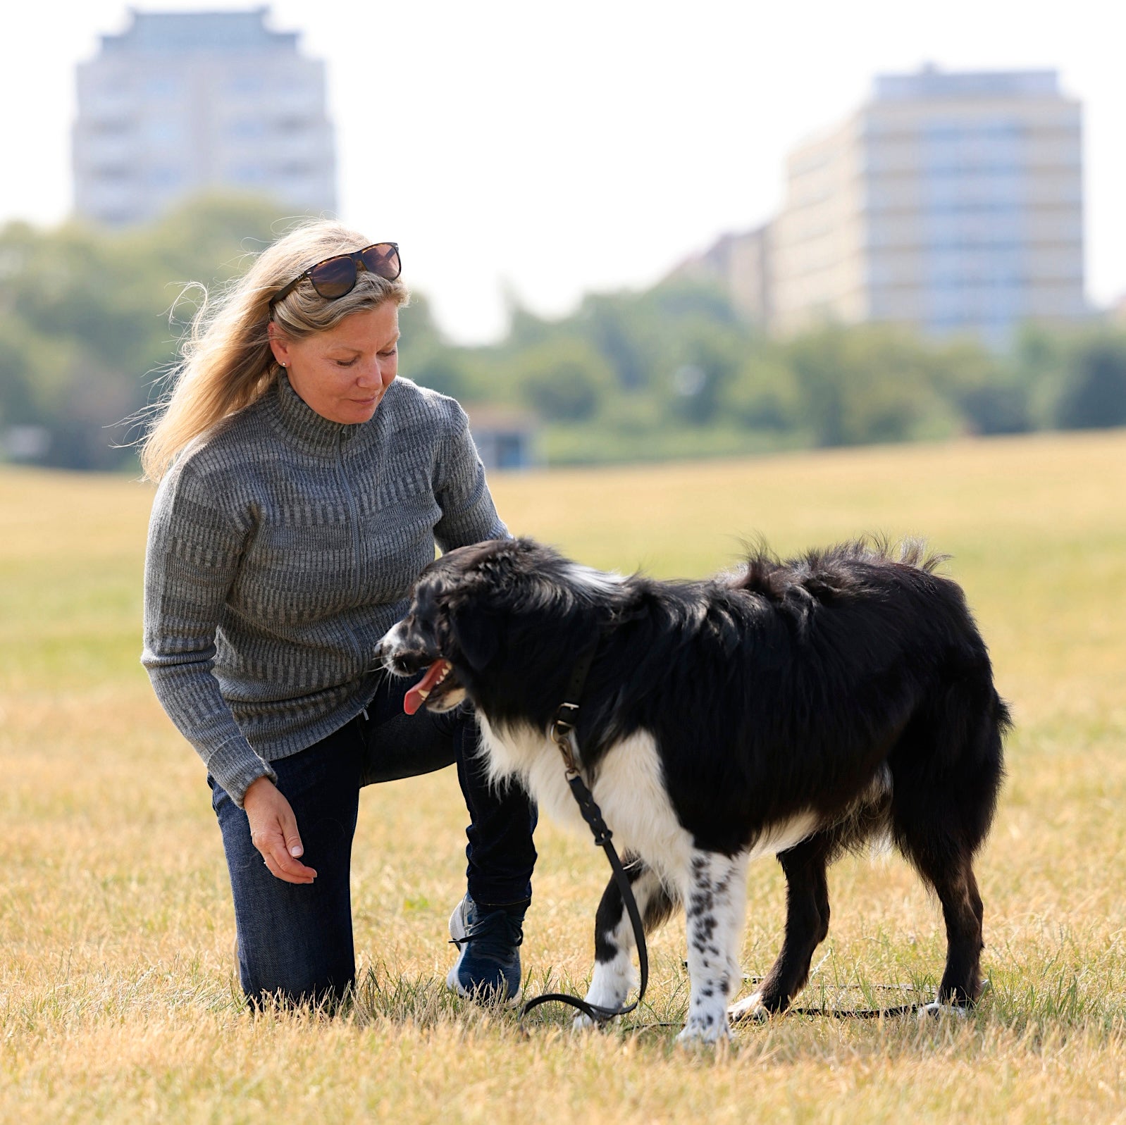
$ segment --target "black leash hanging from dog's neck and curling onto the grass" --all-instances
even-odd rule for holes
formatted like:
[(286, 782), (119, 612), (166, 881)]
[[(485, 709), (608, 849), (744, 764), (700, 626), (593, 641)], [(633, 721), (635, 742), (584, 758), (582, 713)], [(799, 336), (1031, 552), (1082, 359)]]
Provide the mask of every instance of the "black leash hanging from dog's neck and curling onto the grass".
[[(618, 891), (622, 894), (622, 902), (626, 908), (626, 913), (629, 914), (629, 921), (634, 930), (634, 940), (637, 943), (641, 986), (637, 990), (637, 999), (633, 1003), (622, 1008), (604, 1008), (601, 1005), (588, 1003), (586, 1000), (580, 1000), (579, 997), (572, 997), (565, 992), (545, 992), (543, 995), (529, 1000), (520, 1009), (521, 1021), (533, 1008), (538, 1008), (542, 1003), (556, 1001), (570, 1005), (572, 1008), (578, 1008), (579, 1011), (596, 1024), (605, 1024), (614, 1019), (615, 1016), (625, 1016), (627, 1012), (633, 1011), (641, 1003), (642, 998), (645, 995), (645, 986), (649, 984), (649, 950), (645, 948), (645, 928), (642, 925), (641, 911), (637, 909), (637, 900), (634, 898), (633, 887), (629, 885), (629, 877), (626, 875), (625, 867), (622, 866), (617, 850), (610, 842), (613, 833), (607, 828), (606, 821), (602, 820), (602, 811), (598, 807), (598, 803), (595, 801), (590, 789), (587, 788), (587, 783), (582, 779), (579, 764), (574, 757), (575, 742), (578, 741), (574, 730), (579, 721), (579, 700), (582, 698), (582, 689), (587, 684), (587, 675), (595, 662), (595, 654), (598, 652), (600, 641), (601, 633), (587, 645), (579, 654), (578, 660), (575, 660), (574, 667), (571, 670), (571, 679), (568, 681), (565, 702), (561, 703), (555, 711), (555, 718), (552, 722), (552, 739), (563, 757), (563, 765), (566, 769), (566, 783), (579, 804), (582, 819), (593, 833), (595, 843), (606, 852), (606, 858), (610, 861), (610, 869), (614, 872), (614, 882), (617, 883)], [(572, 741), (572, 739), (575, 741)]]

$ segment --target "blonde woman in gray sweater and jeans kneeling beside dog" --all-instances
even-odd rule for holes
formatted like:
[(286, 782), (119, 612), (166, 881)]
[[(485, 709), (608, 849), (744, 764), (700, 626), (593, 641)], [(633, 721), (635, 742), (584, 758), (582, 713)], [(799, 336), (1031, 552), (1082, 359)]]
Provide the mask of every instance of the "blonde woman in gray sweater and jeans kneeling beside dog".
[(359, 789), (455, 761), (468, 891), (447, 984), (520, 983), (534, 810), (489, 789), (471, 716), (408, 717), (372, 661), (436, 543), (507, 534), (464, 411), (395, 378), (399, 274), (394, 243), (336, 223), (274, 243), (200, 310), (142, 450), (160, 482), (142, 662), (207, 766), (256, 1003), (343, 994)]

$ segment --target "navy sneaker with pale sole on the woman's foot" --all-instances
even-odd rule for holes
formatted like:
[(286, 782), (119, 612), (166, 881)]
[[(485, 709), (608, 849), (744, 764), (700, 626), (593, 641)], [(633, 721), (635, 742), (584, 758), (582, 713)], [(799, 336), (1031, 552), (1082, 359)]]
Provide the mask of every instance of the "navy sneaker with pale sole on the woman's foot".
[(488, 913), (468, 896), (449, 916), (449, 937), (461, 949), (446, 988), (482, 1003), (516, 1003), (520, 991), (520, 943), (527, 902)]

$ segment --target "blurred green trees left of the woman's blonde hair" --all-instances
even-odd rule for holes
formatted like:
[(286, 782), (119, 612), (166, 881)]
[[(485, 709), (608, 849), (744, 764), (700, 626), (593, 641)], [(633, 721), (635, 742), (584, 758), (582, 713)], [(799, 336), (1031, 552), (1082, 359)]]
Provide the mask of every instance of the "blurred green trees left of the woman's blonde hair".
[[(41, 464), (133, 466), (127, 419), (157, 398), (198, 307), (276, 238), (257, 199), (198, 199), (143, 229), (0, 229), (0, 437), (42, 428)], [(132, 431), (132, 432), (131, 432)]]

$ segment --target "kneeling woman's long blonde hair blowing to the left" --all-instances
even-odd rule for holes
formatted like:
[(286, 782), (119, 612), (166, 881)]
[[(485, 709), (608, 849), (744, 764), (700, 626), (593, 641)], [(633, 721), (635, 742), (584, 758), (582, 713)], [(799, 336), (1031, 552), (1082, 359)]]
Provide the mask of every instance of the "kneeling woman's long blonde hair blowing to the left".
[(336, 301), (302, 284), (270, 309), (270, 298), (303, 270), (333, 255), (361, 250), (370, 241), (333, 222), (298, 226), (263, 250), (222, 296), (204, 301), (180, 345), (171, 390), (155, 407), (157, 420), (141, 444), (144, 476), (159, 481), (197, 437), (260, 399), (277, 381), (268, 325), (294, 339), (334, 328), (346, 316), (393, 301), (404, 305), (406, 286), (369, 270)]

